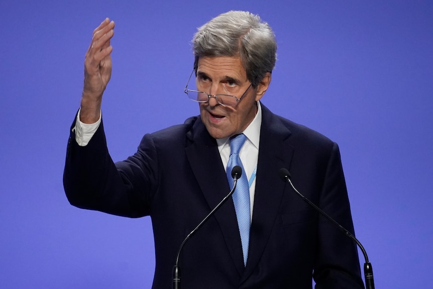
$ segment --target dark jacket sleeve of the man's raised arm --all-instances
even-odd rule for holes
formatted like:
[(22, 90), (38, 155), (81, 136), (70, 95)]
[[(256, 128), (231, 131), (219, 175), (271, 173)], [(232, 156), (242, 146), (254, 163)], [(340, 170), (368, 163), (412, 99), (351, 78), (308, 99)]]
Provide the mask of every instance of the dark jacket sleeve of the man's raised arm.
[[(87, 146), (76, 143), (74, 125), (75, 122), (71, 126), (63, 173), (70, 204), (131, 218), (149, 215), (156, 186), (157, 172), (152, 166), (157, 159), (156, 151), (139, 148), (135, 155), (116, 165), (106, 146), (103, 122)], [(151, 140), (146, 143), (152, 148)]]

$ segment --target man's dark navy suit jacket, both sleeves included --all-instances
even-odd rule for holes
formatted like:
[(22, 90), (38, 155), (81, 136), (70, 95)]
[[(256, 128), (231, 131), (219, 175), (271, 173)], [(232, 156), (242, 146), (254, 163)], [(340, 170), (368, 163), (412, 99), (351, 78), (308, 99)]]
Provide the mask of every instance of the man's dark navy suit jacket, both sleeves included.
[[(309, 200), (353, 232), (336, 143), (262, 105), (256, 190), (246, 267), (230, 199), (186, 243), (182, 287), (362, 288), (356, 245), (302, 201), (279, 176), (287, 168)], [(74, 126), (74, 125), (73, 125)], [(170, 288), (186, 235), (229, 192), (217, 143), (199, 117), (143, 137), (138, 151), (113, 163), (103, 125), (85, 147), (71, 132), (64, 171), (69, 202), (110, 214), (152, 218), (152, 288)]]

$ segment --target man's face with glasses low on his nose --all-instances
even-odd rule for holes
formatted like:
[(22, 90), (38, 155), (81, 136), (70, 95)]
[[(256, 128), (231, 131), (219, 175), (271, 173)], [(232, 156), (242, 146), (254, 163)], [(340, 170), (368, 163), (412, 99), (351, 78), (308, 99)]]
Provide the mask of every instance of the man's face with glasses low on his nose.
[[(266, 91), (270, 74), (265, 76), (257, 88), (248, 86), (247, 73), (239, 57), (200, 57), (197, 66), (197, 87), (206, 82), (209, 94), (233, 94), (238, 99), (244, 97), (234, 107), (223, 106), (210, 98), (207, 103), (199, 104), (201, 120), (213, 138), (225, 138), (243, 132), (257, 113), (257, 101)], [(264, 79), (265, 79), (264, 78)], [(203, 86), (203, 85), (201, 85)], [(236, 94), (230, 91), (239, 91)]]

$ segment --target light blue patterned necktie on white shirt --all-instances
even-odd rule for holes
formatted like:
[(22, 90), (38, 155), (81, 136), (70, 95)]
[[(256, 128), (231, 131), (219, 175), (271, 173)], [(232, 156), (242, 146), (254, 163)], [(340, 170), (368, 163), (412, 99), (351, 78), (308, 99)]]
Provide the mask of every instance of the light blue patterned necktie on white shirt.
[(242, 175), (238, 179), (236, 190), (233, 193), (233, 203), (235, 204), (236, 216), (238, 218), (239, 232), (241, 234), (242, 250), (244, 252), (244, 265), (247, 265), (248, 246), (250, 244), (250, 189), (247, 175), (242, 165), (239, 151), (244, 145), (247, 137), (239, 134), (230, 138), (230, 158), (227, 164), (227, 179), (230, 188), (233, 188), (232, 178), (233, 167), (239, 165), (242, 168)]

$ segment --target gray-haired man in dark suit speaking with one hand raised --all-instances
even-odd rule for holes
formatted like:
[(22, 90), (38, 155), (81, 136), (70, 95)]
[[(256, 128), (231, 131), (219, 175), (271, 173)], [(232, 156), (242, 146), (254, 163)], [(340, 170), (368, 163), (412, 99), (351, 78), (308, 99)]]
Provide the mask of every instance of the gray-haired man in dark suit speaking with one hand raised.
[(69, 202), (120, 216), (151, 216), (152, 287), (169, 288), (180, 244), (230, 191), (230, 172), (239, 164), (246, 176), (238, 181), (242, 188), (183, 248), (182, 286), (311, 288), (313, 277), (316, 288), (362, 288), (353, 241), (280, 179), (280, 168), (290, 170), (309, 200), (353, 232), (337, 144), (259, 102), (276, 60), (268, 24), (232, 11), (200, 27), (193, 38), (195, 81), (185, 88), (199, 102), (200, 115), (145, 135), (137, 152), (116, 164), (100, 119), (114, 26), (103, 21), (86, 53), (64, 171)]

